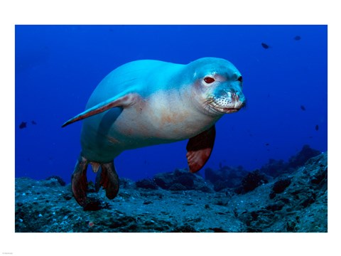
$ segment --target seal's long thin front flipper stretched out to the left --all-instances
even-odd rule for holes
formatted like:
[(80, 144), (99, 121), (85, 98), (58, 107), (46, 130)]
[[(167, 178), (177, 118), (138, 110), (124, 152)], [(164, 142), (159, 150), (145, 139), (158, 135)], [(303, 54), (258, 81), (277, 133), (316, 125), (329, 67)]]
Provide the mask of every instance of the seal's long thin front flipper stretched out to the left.
[(91, 117), (94, 114), (102, 113), (113, 107), (129, 107), (132, 104), (134, 104), (134, 102), (136, 102), (138, 97), (140, 97), (138, 94), (132, 93), (132, 92), (121, 93), (115, 97), (110, 98), (109, 100), (106, 100), (97, 105), (94, 105), (94, 107), (90, 107), (90, 109), (85, 110), (85, 112), (77, 114), (77, 116), (72, 117), (71, 119), (67, 120), (67, 122), (65, 122), (62, 125), (62, 127), (72, 124), (73, 122), (85, 119), (87, 117)]

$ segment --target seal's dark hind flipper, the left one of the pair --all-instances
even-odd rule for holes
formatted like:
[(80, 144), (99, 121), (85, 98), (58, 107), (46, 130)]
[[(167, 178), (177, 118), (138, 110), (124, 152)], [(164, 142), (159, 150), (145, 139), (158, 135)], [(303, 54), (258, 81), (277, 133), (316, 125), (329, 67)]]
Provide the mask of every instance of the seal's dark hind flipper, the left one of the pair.
[(80, 156), (77, 160), (75, 170), (71, 177), (71, 187), (73, 196), (80, 206), (86, 206), (87, 199), (87, 159)]

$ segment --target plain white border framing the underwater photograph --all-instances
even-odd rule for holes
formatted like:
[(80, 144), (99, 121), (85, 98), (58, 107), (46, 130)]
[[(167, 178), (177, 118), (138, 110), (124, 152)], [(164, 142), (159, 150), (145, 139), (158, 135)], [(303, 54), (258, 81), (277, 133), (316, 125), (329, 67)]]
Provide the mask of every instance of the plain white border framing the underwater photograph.
[[(1, 240), (13, 255), (340, 255), (340, 8), (337, 1), (0, 2)], [(14, 223), (15, 24), (328, 24), (328, 234), (16, 234)], [(335, 65), (334, 65), (335, 64)], [(335, 111), (337, 115), (334, 116)], [(340, 156), (339, 156), (340, 158)], [(9, 197), (9, 195), (11, 195)], [(200, 214), (200, 213), (198, 213)], [(339, 239), (340, 240), (340, 239)], [(335, 249), (333, 249), (335, 248)], [(339, 253), (339, 254), (338, 254)]]

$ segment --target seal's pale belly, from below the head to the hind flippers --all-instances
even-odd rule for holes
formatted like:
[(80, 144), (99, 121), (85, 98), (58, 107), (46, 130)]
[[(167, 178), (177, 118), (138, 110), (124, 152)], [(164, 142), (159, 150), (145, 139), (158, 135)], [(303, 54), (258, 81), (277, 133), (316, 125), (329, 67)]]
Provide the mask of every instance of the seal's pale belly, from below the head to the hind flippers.
[[(126, 149), (189, 139), (210, 128), (217, 118), (207, 118), (180, 102), (178, 93), (151, 95), (133, 107), (118, 108), (85, 119), (82, 155), (92, 161), (111, 161)], [(95, 120), (94, 120), (95, 119)]]

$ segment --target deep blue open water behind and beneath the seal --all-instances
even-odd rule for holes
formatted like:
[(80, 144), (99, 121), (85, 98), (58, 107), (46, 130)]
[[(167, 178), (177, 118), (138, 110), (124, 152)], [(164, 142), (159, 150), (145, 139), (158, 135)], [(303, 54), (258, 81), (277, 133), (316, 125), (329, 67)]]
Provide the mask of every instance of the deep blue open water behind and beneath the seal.
[[(288, 160), (304, 144), (326, 151), (327, 32), (327, 26), (283, 25), (18, 25), (16, 177), (57, 175), (69, 183), (82, 122), (61, 125), (85, 110), (105, 75), (142, 59), (187, 64), (218, 57), (242, 73), (247, 107), (217, 122), (215, 148), (205, 167), (253, 171), (269, 159)], [(186, 144), (125, 151), (115, 159), (117, 173), (136, 181), (186, 168)]]

